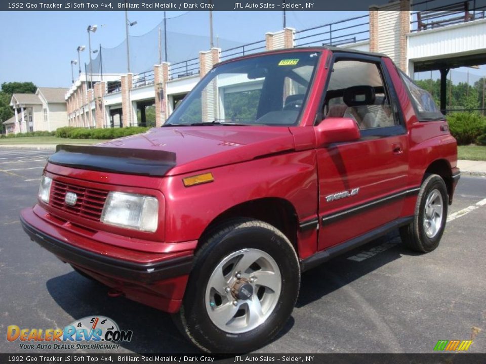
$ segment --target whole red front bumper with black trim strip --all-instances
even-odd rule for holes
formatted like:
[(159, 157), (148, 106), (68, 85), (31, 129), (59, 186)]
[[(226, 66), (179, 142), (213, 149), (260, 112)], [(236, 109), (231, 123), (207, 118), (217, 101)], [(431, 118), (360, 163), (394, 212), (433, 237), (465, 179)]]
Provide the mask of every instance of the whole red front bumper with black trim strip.
[(34, 210), (22, 210), (22, 228), (31, 240), (60, 260), (130, 299), (168, 312), (179, 309), (192, 268), (191, 251), (147, 253), (110, 246), (63, 229)]

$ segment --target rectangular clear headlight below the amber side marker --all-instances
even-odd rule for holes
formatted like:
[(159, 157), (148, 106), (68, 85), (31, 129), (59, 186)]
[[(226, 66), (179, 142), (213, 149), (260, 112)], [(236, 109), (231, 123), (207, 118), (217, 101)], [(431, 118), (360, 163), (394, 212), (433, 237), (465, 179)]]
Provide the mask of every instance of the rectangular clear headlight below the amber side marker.
[(158, 225), (158, 200), (152, 196), (110, 192), (103, 207), (101, 222), (154, 232)]

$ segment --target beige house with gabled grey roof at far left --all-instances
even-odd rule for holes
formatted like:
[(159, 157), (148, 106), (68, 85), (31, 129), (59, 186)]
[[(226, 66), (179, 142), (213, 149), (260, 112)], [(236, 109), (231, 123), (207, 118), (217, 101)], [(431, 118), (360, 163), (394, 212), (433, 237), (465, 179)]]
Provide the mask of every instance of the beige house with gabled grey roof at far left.
[(62, 87), (38, 87), (35, 94), (13, 94), (10, 106), (14, 109), (15, 116), (13, 123), (12, 119), (4, 122), (6, 129), (19, 133), (54, 131), (58, 127), (67, 126), (67, 109), (64, 100), (67, 90)]

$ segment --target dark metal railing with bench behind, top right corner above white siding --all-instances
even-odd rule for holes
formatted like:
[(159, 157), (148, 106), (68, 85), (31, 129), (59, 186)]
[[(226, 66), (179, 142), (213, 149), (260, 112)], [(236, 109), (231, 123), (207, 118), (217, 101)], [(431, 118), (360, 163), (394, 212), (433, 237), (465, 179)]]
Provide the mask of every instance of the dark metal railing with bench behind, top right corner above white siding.
[[(486, 17), (486, 6), (476, 6), (476, 0), (465, 0), (434, 7), (435, 4), (438, 4), (436, 1), (438, 0), (425, 0), (412, 5), (413, 8), (420, 8), (421, 10), (411, 13), (411, 32), (465, 23)], [(429, 4), (432, 6), (430, 9)]]

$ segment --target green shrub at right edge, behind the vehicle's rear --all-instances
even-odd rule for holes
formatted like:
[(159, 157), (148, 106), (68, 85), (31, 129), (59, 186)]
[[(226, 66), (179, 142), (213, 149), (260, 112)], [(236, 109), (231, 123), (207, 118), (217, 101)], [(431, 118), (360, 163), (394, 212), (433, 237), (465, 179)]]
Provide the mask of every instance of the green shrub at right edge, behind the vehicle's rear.
[(477, 113), (453, 113), (447, 116), (447, 121), (459, 145), (474, 143), (479, 135), (486, 133), (486, 118)]

